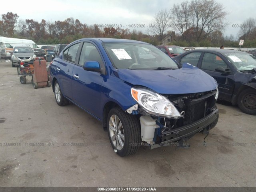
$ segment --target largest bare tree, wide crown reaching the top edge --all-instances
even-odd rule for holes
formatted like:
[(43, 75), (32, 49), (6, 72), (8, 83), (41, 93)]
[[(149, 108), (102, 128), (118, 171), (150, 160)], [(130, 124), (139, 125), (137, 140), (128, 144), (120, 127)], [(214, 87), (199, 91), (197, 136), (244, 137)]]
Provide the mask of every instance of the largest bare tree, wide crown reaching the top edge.
[(196, 34), (196, 40), (204, 40), (214, 31), (223, 31), (228, 25), (224, 21), (228, 12), (215, 0), (192, 0), (189, 22)]

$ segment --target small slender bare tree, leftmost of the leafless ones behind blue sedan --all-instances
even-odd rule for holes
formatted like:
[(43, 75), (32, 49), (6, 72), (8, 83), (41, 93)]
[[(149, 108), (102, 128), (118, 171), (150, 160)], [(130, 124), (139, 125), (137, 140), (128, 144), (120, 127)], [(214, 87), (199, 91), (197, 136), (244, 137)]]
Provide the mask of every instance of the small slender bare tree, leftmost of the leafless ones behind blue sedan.
[(164, 32), (170, 28), (171, 14), (168, 10), (159, 10), (153, 21), (150, 23), (148, 31), (159, 38), (160, 44), (163, 43)]

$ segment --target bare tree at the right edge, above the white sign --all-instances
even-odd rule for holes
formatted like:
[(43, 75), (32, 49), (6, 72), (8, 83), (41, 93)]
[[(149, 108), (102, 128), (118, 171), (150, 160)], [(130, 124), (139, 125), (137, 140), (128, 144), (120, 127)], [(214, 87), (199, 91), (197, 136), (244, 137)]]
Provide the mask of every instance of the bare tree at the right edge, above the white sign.
[(238, 36), (246, 40), (254, 31), (255, 24), (256, 20), (254, 18), (250, 17), (249, 19), (246, 19), (246, 21), (243, 22), (242, 26), (240, 26)]

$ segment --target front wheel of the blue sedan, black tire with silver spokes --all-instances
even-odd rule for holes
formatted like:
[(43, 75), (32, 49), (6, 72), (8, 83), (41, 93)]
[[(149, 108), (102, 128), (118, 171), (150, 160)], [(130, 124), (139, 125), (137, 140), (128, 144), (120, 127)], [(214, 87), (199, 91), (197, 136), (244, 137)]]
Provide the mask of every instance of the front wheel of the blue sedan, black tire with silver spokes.
[[(112, 120), (114, 119), (114, 116), (117, 117), (116, 121), (121, 122), (122, 126), (120, 130), (116, 130), (116, 132), (114, 131), (114, 126), (110, 125), (113, 122)], [(110, 121), (110, 119), (112, 120)], [(110, 128), (110, 126), (112, 128)], [(125, 113), (120, 108), (112, 108), (108, 113), (107, 131), (112, 148), (115, 149), (117, 146), (116, 153), (119, 156), (128, 156), (134, 154), (138, 150), (138, 146), (141, 142), (140, 124), (138, 118), (136, 118), (135, 115)], [(118, 133), (117, 135), (119, 136), (120, 140), (122, 140), (120, 135), (123, 135), (123, 146), (122, 144), (120, 145), (120, 142), (115, 142), (115, 140), (117, 140), (116, 133)], [(112, 138), (115, 140), (112, 141)]]

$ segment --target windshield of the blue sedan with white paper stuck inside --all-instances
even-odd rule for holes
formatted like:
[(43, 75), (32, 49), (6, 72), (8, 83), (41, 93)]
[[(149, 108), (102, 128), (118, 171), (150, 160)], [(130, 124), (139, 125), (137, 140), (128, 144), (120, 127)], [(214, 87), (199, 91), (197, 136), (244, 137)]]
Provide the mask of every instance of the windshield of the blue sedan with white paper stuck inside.
[(103, 43), (113, 66), (117, 69), (178, 69), (177, 64), (155, 46), (142, 43)]

